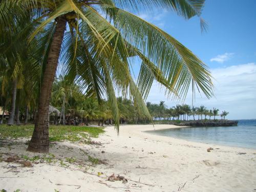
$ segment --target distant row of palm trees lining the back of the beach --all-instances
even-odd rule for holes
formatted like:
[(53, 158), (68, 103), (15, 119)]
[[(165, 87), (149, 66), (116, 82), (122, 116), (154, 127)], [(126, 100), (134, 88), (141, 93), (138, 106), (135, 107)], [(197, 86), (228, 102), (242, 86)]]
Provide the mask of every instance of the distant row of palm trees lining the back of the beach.
[[(0, 86), (4, 87), (3, 77), (0, 77)], [(11, 88), (6, 87), (6, 92), (11, 92)], [(37, 108), (36, 99), (27, 100), (26, 87), (16, 90), (16, 103), (14, 116), (10, 115), (9, 124), (21, 124), (34, 122), (36, 118)], [(30, 98), (36, 98), (36, 92), (30, 93)], [(0, 105), (3, 110), (12, 112), (11, 99), (1, 94)], [(86, 124), (98, 123), (98, 125), (115, 124), (113, 115), (108, 100), (102, 100), (100, 103), (94, 98), (88, 98), (79, 89), (76, 83), (70, 82), (67, 76), (59, 75), (53, 83), (50, 104), (54, 106), (60, 113), (52, 113), (49, 115), (49, 120), (54, 124)], [(118, 97), (118, 111), (120, 114), (120, 124), (126, 123), (150, 123), (151, 120), (202, 120), (216, 119), (220, 116), (225, 119), (228, 112), (222, 111), (219, 114), (219, 109), (213, 108), (208, 110), (205, 106), (199, 107), (190, 106), (188, 104), (177, 104), (172, 108), (167, 108), (164, 101), (159, 103), (146, 102), (146, 107), (152, 119), (147, 118), (139, 113), (131, 99)], [(3, 123), (3, 114), (1, 123)]]

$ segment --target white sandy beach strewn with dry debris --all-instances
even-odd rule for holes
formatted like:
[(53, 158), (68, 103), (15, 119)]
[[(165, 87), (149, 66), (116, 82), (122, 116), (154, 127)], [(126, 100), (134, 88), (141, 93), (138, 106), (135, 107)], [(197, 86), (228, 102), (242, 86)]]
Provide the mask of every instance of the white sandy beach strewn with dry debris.
[[(177, 126), (155, 125), (155, 129), (174, 127)], [(33, 164), (33, 167), (0, 162), (0, 189), (4, 188), (8, 192), (18, 188), (22, 191), (47, 192), (53, 192), (54, 189), (61, 192), (256, 191), (255, 150), (196, 143), (142, 132), (153, 129), (152, 125), (125, 125), (120, 127), (117, 136), (113, 127), (106, 127), (106, 133), (93, 139), (104, 143), (102, 146), (59, 142), (51, 147), (50, 153), (56, 158), (75, 157), (77, 161), (86, 162), (88, 158), (82, 155), (81, 148), (90, 156), (105, 159), (109, 163), (94, 167), (87, 162), (87, 172), (78, 165), (61, 167), (59, 161)], [(0, 147), (0, 152), (31, 157), (38, 155), (26, 152), (26, 147), (19, 143), (11, 145), (11, 148)], [(208, 147), (214, 150), (208, 153)], [(98, 172), (103, 175), (98, 177)], [(113, 173), (124, 176), (128, 182), (106, 181)]]

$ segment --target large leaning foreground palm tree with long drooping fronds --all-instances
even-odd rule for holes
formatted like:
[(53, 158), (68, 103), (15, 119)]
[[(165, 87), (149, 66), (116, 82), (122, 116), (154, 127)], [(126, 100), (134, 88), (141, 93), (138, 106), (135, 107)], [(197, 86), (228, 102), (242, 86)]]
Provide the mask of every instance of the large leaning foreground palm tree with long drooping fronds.
[[(1, 4), (13, 5), (0, 5), (3, 8), (0, 13), (8, 12), (7, 8), (31, 12), (36, 27), (29, 40), (48, 39), (41, 45), (46, 51), (41, 59), (40, 98), (29, 151), (49, 151), (48, 108), (58, 61), (62, 61), (71, 78), (81, 82), (88, 95), (99, 102), (104, 94), (108, 96), (117, 129), (115, 88), (124, 95), (130, 93), (134, 105), (145, 117), (150, 114), (143, 98), (154, 80), (175, 97), (185, 97), (190, 85), (193, 91), (198, 87), (207, 97), (212, 95), (210, 72), (199, 58), (172, 36), (126, 11), (142, 6), (166, 8), (189, 19), (200, 17), (202, 0), (4, 0)], [(0, 25), (7, 25), (7, 17), (0, 17)], [(204, 28), (203, 19), (201, 24)], [(128, 59), (134, 56), (141, 59), (137, 86)]]

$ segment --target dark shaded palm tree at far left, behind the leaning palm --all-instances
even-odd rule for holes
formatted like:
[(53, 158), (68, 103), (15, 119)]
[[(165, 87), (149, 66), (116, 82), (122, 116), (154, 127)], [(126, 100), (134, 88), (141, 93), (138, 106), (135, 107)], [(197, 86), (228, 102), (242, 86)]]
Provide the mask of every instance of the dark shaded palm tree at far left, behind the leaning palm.
[[(36, 38), (30, 44), (27, 41), (30, 31), (33, 30), (31, 15), (29, 12), (17, 8), (16, 3), (13, 1), (0, 2), (0, 25), (2, 26), (0, 29), (0, 75), (8, 79), (12, 86), (9, 125), (14, 124), (15, 113), (16, 120), (19, 121), (17, 116), (19, 116), (20, 110), (18, 105), (16, 107), (17, 89), (22, 95), (22, 89), (28, 79), (31, 80), (31, 88), (35, 88), (37, 75), (40, 72), (39, 65), (35, 62), (37, 59), (34, 57), (35, 44), (38, 41)], [(11, 29), (8, 26), (11, 26)]]

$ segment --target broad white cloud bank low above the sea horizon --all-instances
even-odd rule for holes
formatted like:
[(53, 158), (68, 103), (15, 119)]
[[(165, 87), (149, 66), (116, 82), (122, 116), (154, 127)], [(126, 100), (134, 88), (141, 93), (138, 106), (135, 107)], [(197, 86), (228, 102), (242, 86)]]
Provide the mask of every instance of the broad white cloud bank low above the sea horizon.
[[(208, 109), (215, 107), (228, 111), (228, 119), (256, 118), (256, 63), (212, 69), (211, 74), (215, 78), (215, 97), (207, 99), (197, 93), (196, 106), (203, 104)], [(167, 100), (155, 83), (147, 101), (159, 103), (160, 100), (166, 101), (168, 107), (177, 104)], [(189, 93), (185, 103), (191, 102), (192, 95)]]

